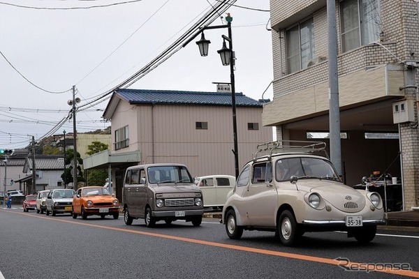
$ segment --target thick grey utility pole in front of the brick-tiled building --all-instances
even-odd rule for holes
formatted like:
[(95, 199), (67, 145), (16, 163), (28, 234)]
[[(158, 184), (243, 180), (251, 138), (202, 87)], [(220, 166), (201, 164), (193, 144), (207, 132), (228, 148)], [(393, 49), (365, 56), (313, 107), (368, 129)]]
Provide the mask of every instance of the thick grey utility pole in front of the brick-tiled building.
[(329, 53), (329, 133), (330, 133), (330, 160), (339, 175), (341, 167), (341, 139), (340, 139), (340, 111), (339, 111), (339, 82), (337, 70), (337, 30), (336, 30), (336, 3), (335, 0), (327, 2), (328, 15), (328, 53)]

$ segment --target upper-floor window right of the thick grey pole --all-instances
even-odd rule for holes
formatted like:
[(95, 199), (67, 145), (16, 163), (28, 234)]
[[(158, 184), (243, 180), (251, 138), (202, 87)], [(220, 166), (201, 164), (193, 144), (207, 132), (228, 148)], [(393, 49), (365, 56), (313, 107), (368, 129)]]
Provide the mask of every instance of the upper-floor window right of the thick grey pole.
[(339, 6), (342, 52), (380, 39), (378, 0), (344, 0)]

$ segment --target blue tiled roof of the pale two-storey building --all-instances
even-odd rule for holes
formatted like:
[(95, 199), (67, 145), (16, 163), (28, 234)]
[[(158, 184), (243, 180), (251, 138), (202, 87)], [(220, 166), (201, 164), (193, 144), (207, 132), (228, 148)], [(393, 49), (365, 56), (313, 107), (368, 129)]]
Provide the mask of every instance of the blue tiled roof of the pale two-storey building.
[[(147, 89), (117, 89), (115, 93), (131, 104), (231, 105), (231, 93)], [(263, 104), (243, 93), (235, 93), (235, 103), (237, 107), (262, 107)]]

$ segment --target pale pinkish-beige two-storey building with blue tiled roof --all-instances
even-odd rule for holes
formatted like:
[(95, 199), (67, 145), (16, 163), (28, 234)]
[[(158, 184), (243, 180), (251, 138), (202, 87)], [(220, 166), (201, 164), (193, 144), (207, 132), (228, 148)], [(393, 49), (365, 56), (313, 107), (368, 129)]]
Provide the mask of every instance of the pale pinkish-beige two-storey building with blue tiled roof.
[[(242, 93), (235, 100), (241, 168), (257, 144), (272, 141), (272, 128), (262, 126), (262, 102)], [(235, 175), (231, 93), (118, 89), (103, 118), (112, 124), (112, 146), (83, 166), (112, 168), (117, 197), (131, 165), (184, 163), (193, 176)]]

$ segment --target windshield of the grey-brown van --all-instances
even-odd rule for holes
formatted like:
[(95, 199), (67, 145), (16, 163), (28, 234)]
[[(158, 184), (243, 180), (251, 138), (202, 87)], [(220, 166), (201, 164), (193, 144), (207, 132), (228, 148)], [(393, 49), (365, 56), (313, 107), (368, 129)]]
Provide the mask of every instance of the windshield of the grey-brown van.
[(193, 183), (188, 169), (183, 166), (156, 166), (147, 169), (149, 183)]

